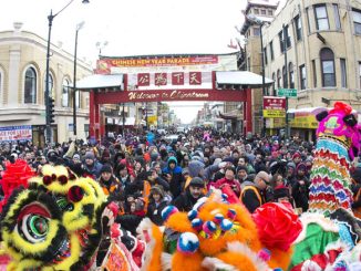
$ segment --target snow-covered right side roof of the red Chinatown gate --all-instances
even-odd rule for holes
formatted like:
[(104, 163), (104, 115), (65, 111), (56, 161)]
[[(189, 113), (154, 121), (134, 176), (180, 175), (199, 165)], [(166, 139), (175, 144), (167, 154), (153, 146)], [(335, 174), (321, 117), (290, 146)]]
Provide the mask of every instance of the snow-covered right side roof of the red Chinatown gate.
[[(241, 85), (243, 87), (261, 87), (262, 76), (247, 71), (216, 72), (218, 85)], [(272, 80), (265, 77), (265, 85), (269, 86)]]

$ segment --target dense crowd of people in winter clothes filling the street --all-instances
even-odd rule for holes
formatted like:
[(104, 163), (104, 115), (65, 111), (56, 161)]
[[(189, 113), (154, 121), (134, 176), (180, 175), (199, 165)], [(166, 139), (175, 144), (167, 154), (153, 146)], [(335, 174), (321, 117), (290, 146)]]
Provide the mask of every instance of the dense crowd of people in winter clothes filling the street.
[[(118, 205), (116, 221), (135, 234), (144, 217), (162, 226), (164, 208), (174, 205), (189, 211), (212, 187), (231, 189), (249, 212), (270, 201), (288, 201), (296, 212), (305, 212), (313, 149), (313, 143), (298, 138), (243, 137), (202, 128), (173, 140), (155, 132), (128, 133), (97, 144), (76, 140), (44, 148), (3, 144), (0, 170), (21, 158), (38, 173), (51, 164), (90, 176)], [(351, 176), (357, 209), (361, 207), (358, 158)]]

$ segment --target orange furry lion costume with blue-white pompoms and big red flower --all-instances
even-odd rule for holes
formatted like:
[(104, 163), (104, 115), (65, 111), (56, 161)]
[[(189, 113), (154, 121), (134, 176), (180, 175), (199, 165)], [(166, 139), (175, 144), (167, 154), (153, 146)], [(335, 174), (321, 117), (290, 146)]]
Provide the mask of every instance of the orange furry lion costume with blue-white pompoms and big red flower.
[(137, 229), (147, 242), (144, 270), (286, 270), (301, 223), (283, 205), (259, 209), (251, 217), (244, 206), (229, 205), (218, 190), (199, 199), (188, 213), (167, 207), (162, 212), (165, 229), (149, 220)]

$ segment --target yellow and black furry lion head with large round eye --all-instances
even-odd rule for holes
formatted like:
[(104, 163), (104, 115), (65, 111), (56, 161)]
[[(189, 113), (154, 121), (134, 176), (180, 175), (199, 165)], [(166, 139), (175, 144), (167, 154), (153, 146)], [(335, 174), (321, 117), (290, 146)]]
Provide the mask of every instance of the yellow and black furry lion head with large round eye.
[(116, 206), (95, 180), (45, 165), (25, 186), (11, 192), (1, 213), (8, 270), (138, 270), (132, 253), (142, 254), (142, 243), (113, 225)]

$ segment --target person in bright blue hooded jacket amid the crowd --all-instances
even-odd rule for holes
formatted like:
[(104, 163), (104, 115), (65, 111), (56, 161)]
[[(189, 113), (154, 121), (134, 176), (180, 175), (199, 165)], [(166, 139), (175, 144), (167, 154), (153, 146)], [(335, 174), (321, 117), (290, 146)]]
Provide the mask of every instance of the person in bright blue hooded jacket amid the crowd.
[(177, 158), (171, 156), (167, 161), (167, 166), (163, 168), (163, 176), (169, 183), (169, 190), (173, 198), (176, 198), (182, 192), (182, 187), (185, 179), (182, 175), (182, 167), (178, 166)]

